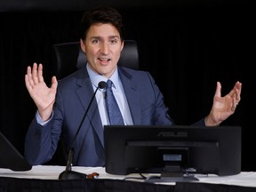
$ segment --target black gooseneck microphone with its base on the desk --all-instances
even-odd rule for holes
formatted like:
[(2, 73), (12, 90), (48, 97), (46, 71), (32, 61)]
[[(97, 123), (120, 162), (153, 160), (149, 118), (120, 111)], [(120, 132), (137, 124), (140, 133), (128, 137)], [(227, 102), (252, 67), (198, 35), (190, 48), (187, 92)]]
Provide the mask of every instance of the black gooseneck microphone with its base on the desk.
[(66, 166), (66, 170), (64, 172), (61, 172), (59, 175), (59, 180), (76, 180), (76, 179), (85, 179), (85, 178), (96, 178), (99, 176), (98, 173), (93, 172), (90, 175), (87, 175), (85, 173), (82, 172), (74, 172), (72, 171), (72, 160), (73, 160), (73, 154), (74, 154), (74, 143), (76, 141), (76, 137), (82, 127), (82, 124), (84, 123), (84, 118), (85, 116), (87, 116), (87, 113), (89, 111), (89, 109), (91, 108), (92, 105), (92, 100), (95, 98), (96, 92), (100, 89), (104, 89), (107, 86), (107, 83), (104, 81), (100, 81), (100, 83), (98, 84), (98, 87), (96, 88), (95, 92), (92, 95), (92, 99), (88, 105), (88, 107), (86, 108), (86, 111), (84, 113), (84, 116), (82, 118), (81, 123), (78, 126), (78, 129), (76, 130), (76, 134), (75, 137), (71, 143), (71, 148), (69, 149), (68, 152), (68, 162), (67, 162), (67, 166)]

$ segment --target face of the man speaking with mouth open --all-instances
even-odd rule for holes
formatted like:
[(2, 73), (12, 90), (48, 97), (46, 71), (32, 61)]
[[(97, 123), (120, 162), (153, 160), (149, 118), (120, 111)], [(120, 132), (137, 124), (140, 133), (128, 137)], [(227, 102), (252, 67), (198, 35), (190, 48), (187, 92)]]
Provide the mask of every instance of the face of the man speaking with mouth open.
[(81, 48), (93, 71), (107, 78), (116, 70), (124, 42), (111, 24), (98, 23), (89, 28)]

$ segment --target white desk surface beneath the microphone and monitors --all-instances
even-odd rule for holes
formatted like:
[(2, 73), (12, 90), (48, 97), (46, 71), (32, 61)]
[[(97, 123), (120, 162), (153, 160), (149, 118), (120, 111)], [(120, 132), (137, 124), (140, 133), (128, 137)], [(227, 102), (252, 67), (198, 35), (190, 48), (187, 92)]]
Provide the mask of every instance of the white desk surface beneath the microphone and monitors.
[[(0, 169), (0, 177), (4, 178), (21, 178), (21, 179), (40, 179), (40, 180), (58, 180), (60, 172), (65, 170), (65, 166), (48, 166), (38, 165), (33, 166), (28, 172), (13, 172), (8, 169)], [(110, 180), (124, 180), (126, 177), (140, 178), (139, 174), (130, 175), (113, 175), (105, 172), (105, 168), (102, 167), (72, 167), (72, 171), (82, 172), (90, 174), (92, 172), (100, 173), (99, 179)], [(148, 176), (148, 175), (146, 175)], [(199, 181), (193, 181), (198, 183), (209, 184), (224, 184), (234, 185), (242, 187), (256, 188), (256, 172), (241, 172), (232, 176), (217, 176), (217, 175), (196, 175)], [(141, 182), (141, 180), (138, 180)], [(160, 183), (164, 185), (175, 185), (175, 182)]]

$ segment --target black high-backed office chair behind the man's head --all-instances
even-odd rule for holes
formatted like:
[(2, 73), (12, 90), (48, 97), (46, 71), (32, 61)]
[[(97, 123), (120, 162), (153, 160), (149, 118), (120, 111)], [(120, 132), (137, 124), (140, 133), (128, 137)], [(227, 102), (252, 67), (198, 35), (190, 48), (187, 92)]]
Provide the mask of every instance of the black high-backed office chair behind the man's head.
[[(86, 63), (84, 52), (80, 48), (80, 42), (53, 44), (53, 49), (57, 59), (56, 76), (58, 79), (68, 76)], [(124, 49), (121, 52), (118, 65), (139, 69), (139, 52), (136, 41), (124, 40)]]

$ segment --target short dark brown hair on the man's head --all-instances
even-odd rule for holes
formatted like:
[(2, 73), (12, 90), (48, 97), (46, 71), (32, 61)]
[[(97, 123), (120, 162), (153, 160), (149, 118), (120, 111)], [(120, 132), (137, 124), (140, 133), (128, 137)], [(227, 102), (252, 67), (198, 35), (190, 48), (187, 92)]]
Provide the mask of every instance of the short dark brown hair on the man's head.
[(97, 23), (113, 25), (119, 32), (121, 40), (124, 40), (124, 25), (122, 16), (116, 11), (116, 9), (109, 6), (84, 12), (82, 20), (80, 21), (80, 38), (84, 40), (86, 38), (88, 29)]

